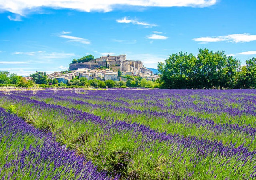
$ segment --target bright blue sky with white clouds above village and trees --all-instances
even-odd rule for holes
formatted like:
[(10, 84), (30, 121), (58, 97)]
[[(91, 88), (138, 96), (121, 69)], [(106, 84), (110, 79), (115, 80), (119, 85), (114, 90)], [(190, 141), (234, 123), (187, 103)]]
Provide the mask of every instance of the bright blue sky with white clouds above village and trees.
[(157, 68), (172, 53), (256, 56), (255, 0), (0, 0), (0, 71), (67, 70), (74, 58), (126, 54)]

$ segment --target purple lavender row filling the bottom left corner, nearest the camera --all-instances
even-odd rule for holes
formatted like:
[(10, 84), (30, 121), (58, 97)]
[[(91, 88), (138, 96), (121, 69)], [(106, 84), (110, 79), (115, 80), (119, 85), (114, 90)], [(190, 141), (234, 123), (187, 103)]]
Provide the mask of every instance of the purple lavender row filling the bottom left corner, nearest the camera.
[[(96, 166), (84, 157), (77, 156), (74, 150), (55, 142), (51, 133), (45, 134), (33, 128), (3, 108), (0, 108), (0, 137), (0, 148), (6, 154), (6, 162), (0, 164), (0, 177), (3, 179), (111, 179), (106, 173), (98, 172)], [(34, 142), (27, 146), (24, 138)]]

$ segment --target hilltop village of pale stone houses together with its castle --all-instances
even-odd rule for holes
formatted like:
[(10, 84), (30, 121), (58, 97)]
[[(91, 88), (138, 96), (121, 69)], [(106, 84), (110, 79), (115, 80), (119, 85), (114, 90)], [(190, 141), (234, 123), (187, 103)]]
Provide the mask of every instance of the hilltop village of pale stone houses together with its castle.
[(145, 68), (141, 61), (126, 60), (126, 55), (102, 56), (87, 62), (73, 60), (69, 65), (68, 72), (54, 72), (48, 74), (48, 78), (57, 79), (59, 83), (66, 84), (76, 77), (85, 77), (88, 80), (127, 81), (126, 75), (139, 76), (146, 80), (158, 79), (158, 75)]

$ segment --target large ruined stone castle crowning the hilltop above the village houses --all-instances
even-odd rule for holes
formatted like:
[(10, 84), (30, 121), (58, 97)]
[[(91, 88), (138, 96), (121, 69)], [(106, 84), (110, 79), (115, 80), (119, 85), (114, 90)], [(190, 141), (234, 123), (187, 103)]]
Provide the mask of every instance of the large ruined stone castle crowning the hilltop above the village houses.
[(132, 74), (140, 74), (144, 68), (141, 61), (126, 60), (126, 55), (119, 56), (102, 56), (89, 62), (71, 63), (69, 70), (78, 70), (79, 68), (96, 69), (100, 67), (107, 67), (117, 72), (118, 70), (124, 72), (132, 72)]

